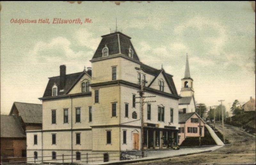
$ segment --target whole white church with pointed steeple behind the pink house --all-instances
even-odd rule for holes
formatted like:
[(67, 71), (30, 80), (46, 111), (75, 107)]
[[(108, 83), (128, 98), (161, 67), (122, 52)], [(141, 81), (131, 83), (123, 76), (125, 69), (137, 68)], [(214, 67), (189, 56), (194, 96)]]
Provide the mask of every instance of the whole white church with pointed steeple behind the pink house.
[(196, 111), (196, 100), (194, 97), (193, 79), (190, 76), (188, 65), (188, 54), (184, 78), (181, 79), (181, 90), (179, 99), (179, 113), (191, 113)]

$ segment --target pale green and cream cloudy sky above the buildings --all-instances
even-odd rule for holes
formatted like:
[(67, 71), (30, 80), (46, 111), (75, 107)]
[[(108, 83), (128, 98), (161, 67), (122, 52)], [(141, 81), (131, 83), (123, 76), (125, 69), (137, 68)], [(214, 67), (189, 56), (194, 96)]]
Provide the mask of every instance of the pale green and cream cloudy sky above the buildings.
[[(235, 99), (255, 98), (255, 2), (1, 1), (0, 14), (1, 114), (15, 101), (41, 104), (60, 65), (67, 74), (90, 67), (100, 36), (116, 28), (116, 19), (140, 61), (157, 69), (163, 64), (178, 93), (188, 54), (197, 103), (222, 99), (229, 109)], [(40, 18), (50, 24), (11, 23)], [(54, 18), (83, 24), (52, 24)]]

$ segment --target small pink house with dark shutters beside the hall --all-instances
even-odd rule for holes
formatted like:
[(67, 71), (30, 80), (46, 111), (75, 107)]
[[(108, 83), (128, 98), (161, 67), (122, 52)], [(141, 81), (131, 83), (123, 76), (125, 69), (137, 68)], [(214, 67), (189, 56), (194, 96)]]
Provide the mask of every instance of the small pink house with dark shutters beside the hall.
[(200, 134), (204, 137), (204, 124), (204, 120), (196, 112), (179, 114), (179, 145), (187, 137), (199, 137)]

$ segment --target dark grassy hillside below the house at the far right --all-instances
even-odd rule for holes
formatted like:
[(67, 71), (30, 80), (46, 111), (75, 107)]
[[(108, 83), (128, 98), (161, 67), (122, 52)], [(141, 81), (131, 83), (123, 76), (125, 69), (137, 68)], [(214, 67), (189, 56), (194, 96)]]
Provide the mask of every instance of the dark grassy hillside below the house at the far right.
[(243, 127), (246, 131), (255, 133), (255, 111), (243, 112), (239, 115), (226, 118), (225, 124), (232, 126)]

